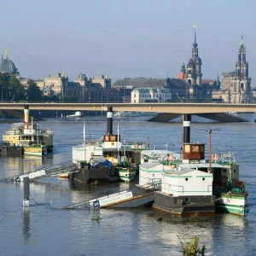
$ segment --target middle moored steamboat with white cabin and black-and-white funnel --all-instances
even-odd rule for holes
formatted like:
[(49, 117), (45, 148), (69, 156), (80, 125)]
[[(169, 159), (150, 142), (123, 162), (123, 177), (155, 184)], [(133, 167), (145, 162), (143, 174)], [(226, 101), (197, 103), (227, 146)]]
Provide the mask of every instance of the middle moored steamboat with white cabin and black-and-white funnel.
[[(113, 180), (113, 177), (118, 177), (119, 180), (127, 183), (134, 179), (137, 173), (137, 164), (140, 162), (140, 153), (145, 149), (145, 146), (143, 143), (121, 143), (119, 125), (118, 134), (113, 134), (112, 119), (113, 112), (108, 112), (108, 132), (95, 142), (85, 142), (84, 126), (84, 143), (73, 147), (73, 164), (84, 174), (82, 175), (79, 172), (73, 174), (75, 180), (88, 182), (90, 180), (88, 173), (91, 173), (91, 177), (93, 176), (95, 179), (97, 177), (98, 179), (107, 179), (109, 177)], [(91, 168), (91, 160), (96, 159), (96, 157), (108, 160), (112, 164), (111, 169), (104, 167), (106, 169), (103, 171), (104, 175), (102, 175), (103, 172), (96, 174), (98, 168), (103, 168), (102, 165), (98, 166), (98, 168), (96, 166), (93, 169)], [(121, 165), (124, 161), (127, 166)], [(87, 175), (85, 175), (85, 172), (88, 172)]]

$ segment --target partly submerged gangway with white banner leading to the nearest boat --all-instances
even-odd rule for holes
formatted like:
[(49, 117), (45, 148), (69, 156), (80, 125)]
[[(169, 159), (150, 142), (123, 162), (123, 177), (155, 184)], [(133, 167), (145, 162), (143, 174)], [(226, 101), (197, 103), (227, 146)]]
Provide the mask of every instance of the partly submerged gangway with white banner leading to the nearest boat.
[(154, 191), (161, 188), (161, 181), (137, 185), (111, 195), (105, 195), (88, 201), (80, 201), (62, 209), (108, 208), (108, 207), (140, 207), (154, 201)]

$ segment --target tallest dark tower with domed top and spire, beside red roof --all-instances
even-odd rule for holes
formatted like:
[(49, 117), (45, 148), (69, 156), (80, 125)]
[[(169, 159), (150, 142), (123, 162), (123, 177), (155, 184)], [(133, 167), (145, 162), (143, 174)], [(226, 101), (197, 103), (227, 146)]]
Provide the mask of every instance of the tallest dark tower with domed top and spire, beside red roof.
[[(193, 26), (194, 29), (196, 26)], [(195, 85), (198, 84), (201, 86), (201, 58), (198, 56), (198, 48), (197, 48), (197, 43), (196, 43), (196, 33), (195, 33), (195, 40), (193, 44), (193, 49), (192, 49), (192, 57), (189, 60), (189, 63), (187, 65), (187, 73), (188, 73), (188, 84), (189, 85)]]

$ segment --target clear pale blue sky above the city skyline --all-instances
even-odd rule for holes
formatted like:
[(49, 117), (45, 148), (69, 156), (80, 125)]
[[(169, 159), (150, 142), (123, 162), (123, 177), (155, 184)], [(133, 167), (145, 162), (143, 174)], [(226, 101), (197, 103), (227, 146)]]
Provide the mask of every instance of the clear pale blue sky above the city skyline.
[(20, 76), (176, 78), (196, 40), (202, 79), (235, 71), (243, 34), (256, 85), (255, 0), (1, 1), (0, 54)]

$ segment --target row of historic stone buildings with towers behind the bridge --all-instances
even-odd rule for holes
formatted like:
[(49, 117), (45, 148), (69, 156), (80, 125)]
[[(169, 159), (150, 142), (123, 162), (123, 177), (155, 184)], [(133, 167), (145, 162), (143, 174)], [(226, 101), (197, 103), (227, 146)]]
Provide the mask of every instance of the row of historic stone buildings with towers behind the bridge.
[[(69, 81), (65, 73), (53, 73), (46, 78), (35, 80), (44, 95), (59, 96), (63, 102), (67, 96), (74, 96), (77, 102), (256, 102), (256, 92), (251, 88), (251, 78), (246, 61), (246, 48), (241, 36), (238, 49), (236, 71), (222, 74), (214, 80), (202, 79), (202, 61), (199, 56), (196, 32), (192, 55), (187, 66), (182, 62), (176, 79), (119, 79), (112, 84), (108, 74), (87, 78), (79, 73)], [(20, 77), (13, 61), (9, 60), (8, 50), (0, 62), (1, 73), (11, 73), (27, 88), (29, 79)]]

